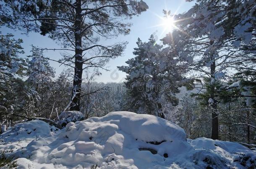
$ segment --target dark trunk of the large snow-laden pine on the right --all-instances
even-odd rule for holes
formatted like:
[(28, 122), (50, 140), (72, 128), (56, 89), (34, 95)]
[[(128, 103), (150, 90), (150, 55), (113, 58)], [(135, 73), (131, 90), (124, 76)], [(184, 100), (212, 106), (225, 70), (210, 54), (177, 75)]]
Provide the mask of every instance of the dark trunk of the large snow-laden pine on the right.
[[(210, 45), (214, 43), (213, 40), (210, 41)], [(217, 140), (219, 137), (219, 120), (218, 120), (218, 114), (217, 114), (217, 101), (215, 99), (215, 86), (212, 84), (212, 79), (215, 79), (215, 58), (213, 53), (211, 53), (211, 87), (210, 87), (210, 97), (213, 100), (213, 103), (211, 103), (211, 109), (212, 109), (212, 136), (211, 138), (214, 140)]]

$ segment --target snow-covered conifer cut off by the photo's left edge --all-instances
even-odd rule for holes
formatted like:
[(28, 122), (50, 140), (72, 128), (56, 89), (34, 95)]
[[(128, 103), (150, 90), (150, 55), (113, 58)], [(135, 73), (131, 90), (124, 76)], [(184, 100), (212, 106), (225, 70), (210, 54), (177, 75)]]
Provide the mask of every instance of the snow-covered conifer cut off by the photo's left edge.
[(0, 32), (0, 121), (9, 123), (21, 114), (14, 111), (18, 107), (16, 93), (23, 90), (21, 78), (24, 76), (25, 60), (19, 57), (24, 53), (21, 39), (13, 39), (12, 34)]

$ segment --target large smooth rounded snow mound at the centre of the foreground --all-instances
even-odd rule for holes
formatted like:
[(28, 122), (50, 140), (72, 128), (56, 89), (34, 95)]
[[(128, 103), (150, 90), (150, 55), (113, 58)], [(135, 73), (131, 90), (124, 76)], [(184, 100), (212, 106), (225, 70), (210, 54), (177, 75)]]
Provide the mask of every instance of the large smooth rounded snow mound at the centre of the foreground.
[[(185, 141), (186, 139), (185, 131), (180, 126), (147, 114), (136, 114), (127, 111), (110, 112), (104, 117), (92, 117), (88, 121), (93, 124), (99, 124), (96, 125), (97, 130), (104, 129), (106, 132), (120, 130), (142, 141)], [(104, 128), (105, 125), (101, 126), (100, 122), (109, 124), (108, 127), (110, 129)], [(78, 123), (76, 125), (82, 124)]]

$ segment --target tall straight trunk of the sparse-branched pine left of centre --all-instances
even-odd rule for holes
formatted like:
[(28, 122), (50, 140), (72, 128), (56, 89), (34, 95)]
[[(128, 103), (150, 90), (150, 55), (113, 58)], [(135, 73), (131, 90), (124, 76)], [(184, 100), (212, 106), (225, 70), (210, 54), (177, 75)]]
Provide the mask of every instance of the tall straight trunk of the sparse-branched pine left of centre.
[(80, 99), (81, 99), (81, 83), (83, 74), (83, 50), (82, 50), (82, 38), (81, 38), (81, 0), (76, 0), (76, 21), (74, 27), (75, 31), (75, 73), (73, 80), (73, 91), (72, 91), (72, 103), (70, 110), (80, 111)]

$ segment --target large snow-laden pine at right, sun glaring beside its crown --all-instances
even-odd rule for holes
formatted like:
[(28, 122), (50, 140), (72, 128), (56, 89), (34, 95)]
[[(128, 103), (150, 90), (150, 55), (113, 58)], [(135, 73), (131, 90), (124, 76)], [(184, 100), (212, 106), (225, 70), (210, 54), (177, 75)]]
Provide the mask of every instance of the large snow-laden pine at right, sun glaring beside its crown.
[(246, 69), (244, 64), (253, 61), (253, 31), (256, 24), (254, 1), (197, 2), (187, 13), (173, 16), (178, 29), (169, 33), (163, 42), (175, 48), (179, 58), (193, 61), (188, 71), (193, 78), (196, 75), (197, 82), (202, 77), (206, 80), (201, 85), (207, 88), (207, 100), (212, 107), (212, 139), (218, 139), (217, 81), (231, 76), (234, 68), (239, 71)]

